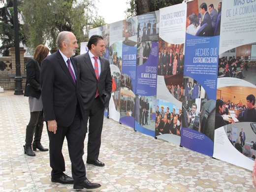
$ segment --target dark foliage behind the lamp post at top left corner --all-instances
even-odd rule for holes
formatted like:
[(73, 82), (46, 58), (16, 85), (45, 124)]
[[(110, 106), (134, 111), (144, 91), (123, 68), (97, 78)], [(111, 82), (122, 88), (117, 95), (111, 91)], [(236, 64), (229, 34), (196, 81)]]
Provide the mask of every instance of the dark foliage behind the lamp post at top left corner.
[[(14, 15), (13, 15), (13, 0), (0, 0), (4, 6), (0, 8), (0, 55), (9, 56), (9, 48), (14, 46)], [(23, 0), (18, 0), (18, 12), (21, 12)], [(26, 43), (26, 38), (23, 32), (23, 25), (18, 23), (19, 27), (19, 42)]]

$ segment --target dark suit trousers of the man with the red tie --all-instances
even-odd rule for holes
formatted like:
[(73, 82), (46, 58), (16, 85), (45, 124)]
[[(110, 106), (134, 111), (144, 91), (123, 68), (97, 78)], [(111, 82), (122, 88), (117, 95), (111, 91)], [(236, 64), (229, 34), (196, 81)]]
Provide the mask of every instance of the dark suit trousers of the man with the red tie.
[[(87, 122), (89, 119), (89, 133), (87, 144), (87, 160), (97, 160), (101, 144), (101, 132), (104, 118), (104, 105), (99, 96), (94, 99), (93, 104), (85, 109), (84, 139), (86, 137)], [(90, 118), (89, 118), (90, 117)]]

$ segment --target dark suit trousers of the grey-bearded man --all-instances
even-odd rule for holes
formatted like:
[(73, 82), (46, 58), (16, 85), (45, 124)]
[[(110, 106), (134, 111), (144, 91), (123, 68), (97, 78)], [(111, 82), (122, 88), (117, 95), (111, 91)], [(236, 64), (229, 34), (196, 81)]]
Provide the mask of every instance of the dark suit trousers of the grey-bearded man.
[(71, 160), (72, 177), (74, 185), (83, 182), (86, 179), (85, 164), (83, 161), (83, 138), (82, 138), (82, 119), (79, 104), (76, 107), (76, 113), (72, 124), (68, 127), (58, 126), (56, 134), (48, 130), (49, 148), (50, 148), (50, 166), (52, 167), (52, 178), (58, 179), (64, 175), (65, 161), (62, 154), (64, 138), (66, 137), (69, 158)]

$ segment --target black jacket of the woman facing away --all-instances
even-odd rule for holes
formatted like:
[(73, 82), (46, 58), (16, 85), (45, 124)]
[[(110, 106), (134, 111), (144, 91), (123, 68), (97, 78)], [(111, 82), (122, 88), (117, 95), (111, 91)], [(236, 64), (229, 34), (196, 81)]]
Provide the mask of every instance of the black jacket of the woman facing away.
[(41, 96), (40, 68), (37, 61), (30, 59), (26, 64), (27, 80), (24, 96), (39, 98)]

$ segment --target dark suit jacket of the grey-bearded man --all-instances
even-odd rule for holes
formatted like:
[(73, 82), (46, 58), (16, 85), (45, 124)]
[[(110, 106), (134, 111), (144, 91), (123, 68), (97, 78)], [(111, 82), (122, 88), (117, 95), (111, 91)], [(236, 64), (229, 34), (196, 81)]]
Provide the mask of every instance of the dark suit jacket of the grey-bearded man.
[(72, 124), (77, 107), (85, 121), (77, 64), (73, 57), (70, 60), (76, 84), (59, 50), (43, 60), (40, 73), (44, 120), (56, 120), (57, 125), (64, 127)]

